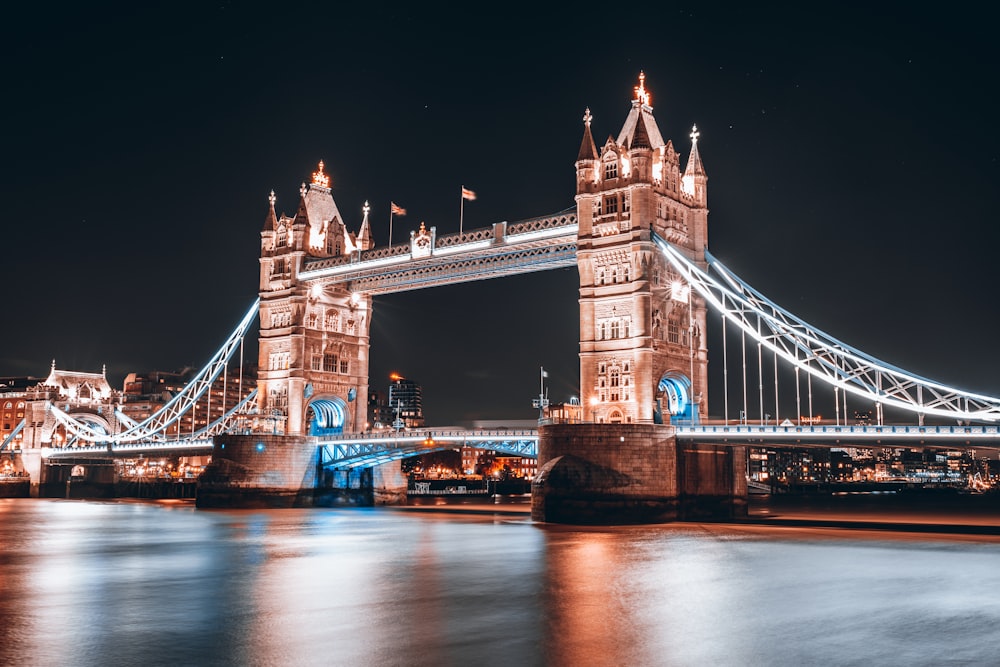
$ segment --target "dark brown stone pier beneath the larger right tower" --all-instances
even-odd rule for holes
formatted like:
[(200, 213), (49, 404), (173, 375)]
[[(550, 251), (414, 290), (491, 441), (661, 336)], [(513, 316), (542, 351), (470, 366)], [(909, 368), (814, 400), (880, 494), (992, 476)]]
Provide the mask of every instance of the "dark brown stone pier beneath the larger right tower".
[(538, 431), (535, 521), (636, 524), (746, 516), (746, 450), (677, 442), (670, 426), (550, 424)]

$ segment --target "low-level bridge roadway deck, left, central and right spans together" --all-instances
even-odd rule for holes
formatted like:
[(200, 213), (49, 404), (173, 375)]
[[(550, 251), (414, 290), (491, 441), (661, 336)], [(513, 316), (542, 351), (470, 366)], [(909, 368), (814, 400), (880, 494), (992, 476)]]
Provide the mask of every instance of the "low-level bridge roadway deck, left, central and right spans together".
[[(701, 424), (674, 427), (678, 439), (750, 447), (938, 447), (1000, 449), (1000, 426)], [(538, 430), (457, 427), (316, 438), (325, 467), (363, 468), (467, 445), (514, 456), (538, 455)], [(47, 457), (206, 455), (211, 439), (156, 440), (48, 449)]]

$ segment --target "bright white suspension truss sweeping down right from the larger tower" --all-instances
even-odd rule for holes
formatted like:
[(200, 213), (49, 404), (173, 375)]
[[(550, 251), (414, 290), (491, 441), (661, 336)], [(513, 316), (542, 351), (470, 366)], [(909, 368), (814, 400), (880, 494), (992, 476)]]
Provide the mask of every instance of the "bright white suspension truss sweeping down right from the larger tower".
[(703, 271), (657, 235), (653, 240), (678, 273), (726, 320), (753, 340), (821, 381), (876, 404), (919, 415), (993, 422), (1000, 399), (919, 377), (876, 359), (799, 319), (770, 301), (722, 265), (705, 259), (721, 280)]

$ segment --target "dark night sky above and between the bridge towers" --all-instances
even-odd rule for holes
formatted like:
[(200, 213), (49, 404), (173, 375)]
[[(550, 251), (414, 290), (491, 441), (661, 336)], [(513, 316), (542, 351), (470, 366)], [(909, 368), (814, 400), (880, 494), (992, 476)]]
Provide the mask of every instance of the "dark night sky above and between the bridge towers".
[[(664, 137), (686, 156), (701, 131), (719, 259), (869, 354), (1000, 395), (989, 9), (344, 4), (5, 21), (0, 375), (202, 366), (256, 296), (269, 191), (294, 213), (319, 160), (380, 245), (390, 200), (397, 241), (457, 231), (463, 184), (466, 229), (571, 206), (584, 109), (617, 136), (642, 70)], [(380, 297), (371, 384), (420, 382), (432, 424), (530, 418), (540, 366), (577, 393), (578, 330), (575, 270)]]

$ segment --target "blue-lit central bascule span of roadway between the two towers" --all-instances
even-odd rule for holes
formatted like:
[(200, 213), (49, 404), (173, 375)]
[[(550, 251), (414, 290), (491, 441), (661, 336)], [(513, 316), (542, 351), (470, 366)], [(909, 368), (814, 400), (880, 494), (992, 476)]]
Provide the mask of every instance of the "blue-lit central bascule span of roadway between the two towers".
[(536, 458), (538, 431), (402, 431), (387, 435), (349, 435), (321, 442), (320, 462), (323, 467), (336, 470), (370, 468), (462, 446)]

